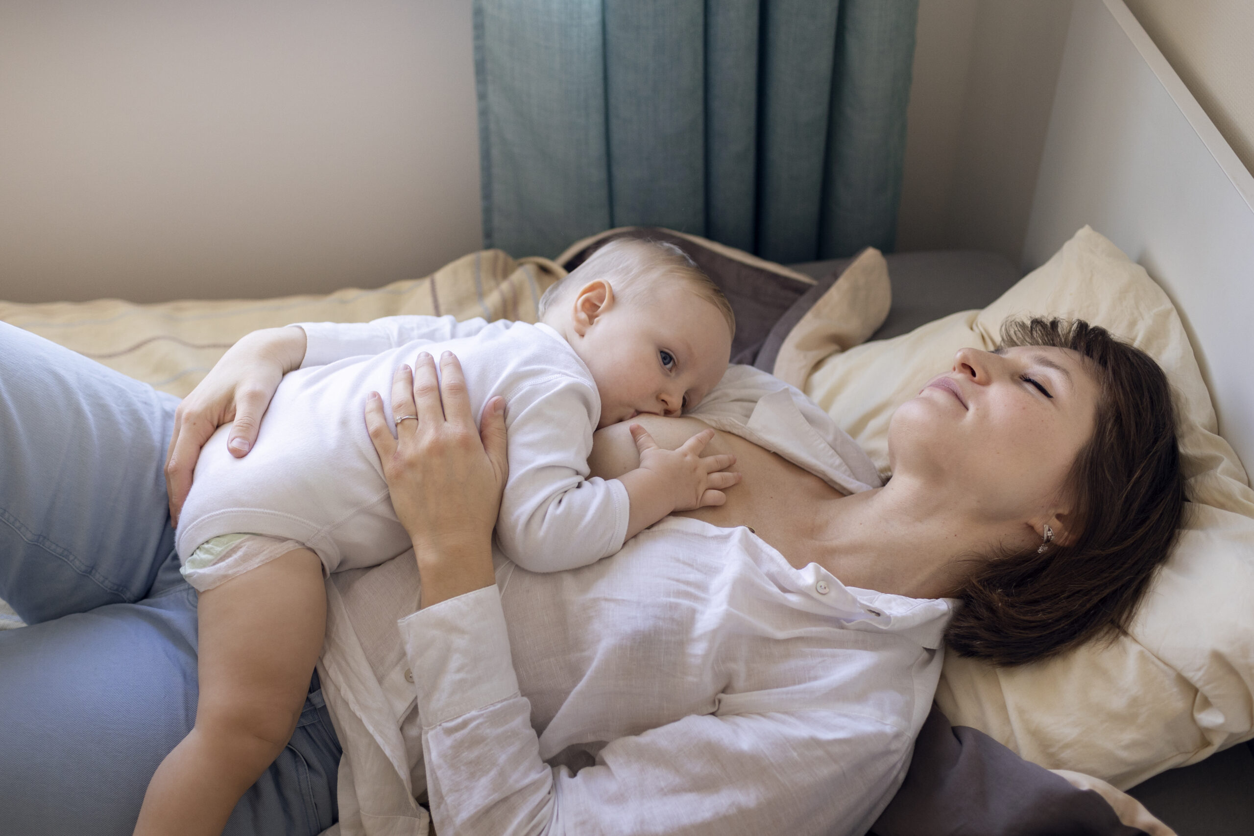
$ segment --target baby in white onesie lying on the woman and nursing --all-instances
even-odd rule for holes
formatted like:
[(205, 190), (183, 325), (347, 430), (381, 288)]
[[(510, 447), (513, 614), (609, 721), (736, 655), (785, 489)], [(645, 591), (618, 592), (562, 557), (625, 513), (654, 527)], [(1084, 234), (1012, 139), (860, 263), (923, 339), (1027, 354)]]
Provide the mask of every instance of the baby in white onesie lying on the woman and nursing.
[(587, 465), (594, 430), (678, 415), (722, 377), (735, 320), (717, 286), (672, 244), (619, 238), (539, 307), (534, 326), (453, 317), (360, 326), (398, 347), (285, 376), (243, 459), (227, 451), (228, 426), (208, 441), (176, 540), (183, 575), (202, 593), (197, 722), (153, 777), (137, 833), (226, 823), (286, 743), (282, 722), (258, 718), (281, 717), (290, 736), (300, 714), (322, 642), (322, 577), (410, 548), (362, 416), (371, 392), (390, 401), (396, 368), (419, 352), (456, 355), (477, 415), (505, 399), (509, 479), (497, 540), (524, 569), (594, 563), (671, 511), (722, 501), (719, 489), (737, 479), (725, 470), (730, 456), (682, 464), (703, 436), (651, 451), (619, 479), (589, 478)]

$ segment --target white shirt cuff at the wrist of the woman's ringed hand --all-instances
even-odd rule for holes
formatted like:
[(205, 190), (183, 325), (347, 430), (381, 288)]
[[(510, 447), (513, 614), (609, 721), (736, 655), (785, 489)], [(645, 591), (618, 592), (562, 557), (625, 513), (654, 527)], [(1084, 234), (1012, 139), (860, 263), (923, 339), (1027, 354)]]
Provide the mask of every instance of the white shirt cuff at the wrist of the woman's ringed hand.
[(398, 622), (424, 728), (518, 696), (505, 612), (495, 585)]

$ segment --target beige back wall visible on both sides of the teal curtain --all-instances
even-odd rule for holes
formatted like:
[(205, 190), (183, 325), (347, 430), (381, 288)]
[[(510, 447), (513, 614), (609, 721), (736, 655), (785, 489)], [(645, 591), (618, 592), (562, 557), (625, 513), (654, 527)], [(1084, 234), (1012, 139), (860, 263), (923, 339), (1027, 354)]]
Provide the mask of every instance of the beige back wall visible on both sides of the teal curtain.
[[(1070, 0), (922, 0), (899, 249), (1018, 261)], [(480, 246), (470, 0), (4, 0), (0, 298), (376, 287)]]

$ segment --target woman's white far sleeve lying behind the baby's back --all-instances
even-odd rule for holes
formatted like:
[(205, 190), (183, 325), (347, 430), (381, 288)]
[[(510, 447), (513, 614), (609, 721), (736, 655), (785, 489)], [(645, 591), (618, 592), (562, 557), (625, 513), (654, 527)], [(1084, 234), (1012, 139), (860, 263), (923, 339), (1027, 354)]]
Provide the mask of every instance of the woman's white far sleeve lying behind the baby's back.
[(301, 368), (326, 366), (345, 357), (377, 355), (415, 340), (436, 342), (473, 337), (487, 325), (474, 318), (459, 322), (453, 316), (387, 316), (370, 322), (295, 322), (305, 331), (305, 360)]

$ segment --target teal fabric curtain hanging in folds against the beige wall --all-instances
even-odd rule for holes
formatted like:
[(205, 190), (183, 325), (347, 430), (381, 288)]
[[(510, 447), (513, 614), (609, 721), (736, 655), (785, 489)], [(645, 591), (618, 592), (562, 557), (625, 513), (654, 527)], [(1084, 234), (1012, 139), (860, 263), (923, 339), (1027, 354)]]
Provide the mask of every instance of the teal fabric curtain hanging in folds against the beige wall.
[(484, 243), (893, 248), (918, 0), (475, 0)]

